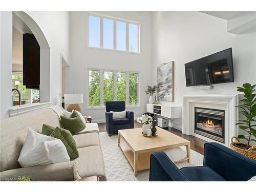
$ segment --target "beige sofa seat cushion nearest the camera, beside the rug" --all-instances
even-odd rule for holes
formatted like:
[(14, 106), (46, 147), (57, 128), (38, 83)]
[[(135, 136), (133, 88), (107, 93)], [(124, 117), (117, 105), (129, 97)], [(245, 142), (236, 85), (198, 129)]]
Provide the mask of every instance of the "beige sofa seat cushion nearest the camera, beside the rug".
[(88, 146), (78, 148), (79, 157), (76, 162), (77, 171), (81, 178), (89, 176), (102, 177), (105, 175), (105, 167), (100, 146)]

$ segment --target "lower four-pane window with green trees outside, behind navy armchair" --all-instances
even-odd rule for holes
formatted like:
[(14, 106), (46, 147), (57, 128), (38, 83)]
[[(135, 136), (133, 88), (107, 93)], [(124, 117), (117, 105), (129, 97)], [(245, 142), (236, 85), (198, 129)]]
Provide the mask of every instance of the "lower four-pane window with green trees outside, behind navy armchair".
[(139, 73), (111, 70), (88, 70), (88, 106), (103, 107), (106, 101), (125, 101), (139, 105)]

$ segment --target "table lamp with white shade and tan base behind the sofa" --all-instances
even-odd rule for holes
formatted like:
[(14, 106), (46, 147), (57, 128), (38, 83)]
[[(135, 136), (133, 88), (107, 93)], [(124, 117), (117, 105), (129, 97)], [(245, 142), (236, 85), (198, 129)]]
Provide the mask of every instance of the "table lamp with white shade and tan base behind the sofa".
[(82, 103), (82, 94), (64, 94), (64, 101), (70, 104), (67, 108), (68, 112), (76, 110), (81, 113), (81, 108), (78, 103)]

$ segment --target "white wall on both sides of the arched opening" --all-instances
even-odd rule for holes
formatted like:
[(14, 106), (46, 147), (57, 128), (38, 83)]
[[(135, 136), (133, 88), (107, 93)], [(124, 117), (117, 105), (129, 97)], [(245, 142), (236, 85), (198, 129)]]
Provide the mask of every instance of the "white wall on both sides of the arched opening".
[[(50, 47), (50, 101), (61, 102), (61, 54), (69, 60), (69, 12), (26, 12), (44, 33)], [(12, 12), (1, 12), (1, 118), (11, 106)], [(45, 50), (45, 49), (44, 49)], [(49, 72), (48, 72), (49, 73)], [(49, 74), (45, 73), (45, 78)], [(44, 78), (44, 76), (42, 77)]]

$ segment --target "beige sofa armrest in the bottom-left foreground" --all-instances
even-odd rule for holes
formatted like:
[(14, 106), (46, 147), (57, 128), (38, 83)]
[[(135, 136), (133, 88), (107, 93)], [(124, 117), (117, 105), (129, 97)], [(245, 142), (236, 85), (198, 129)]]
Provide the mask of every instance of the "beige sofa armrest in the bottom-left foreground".
[(31, 181), (74, 181), (80, 179), (76, 163), (73, 161), (16, 168), (0, 173), (2, 181), (16, 181), (23, 177)]

